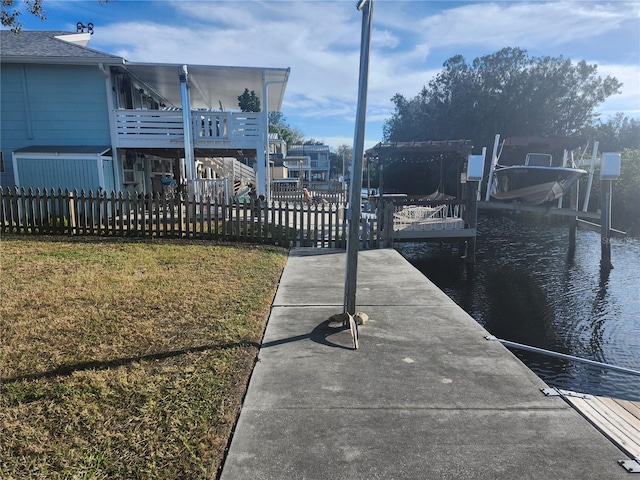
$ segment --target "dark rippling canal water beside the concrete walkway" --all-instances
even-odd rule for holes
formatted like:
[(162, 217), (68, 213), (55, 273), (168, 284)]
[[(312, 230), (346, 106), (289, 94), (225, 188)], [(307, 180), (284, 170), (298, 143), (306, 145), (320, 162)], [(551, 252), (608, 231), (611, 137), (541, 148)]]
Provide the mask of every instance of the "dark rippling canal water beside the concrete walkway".
[[(613, 239), (600, 270), (600, 235), (531, 217), (481, 215), (468, 275), (457, 246), (399, 244), (416, 268), (494, 336), (640, 371), (640, 240)], [(640, 376), (512, 349), (548, 385), (640, 400)]]

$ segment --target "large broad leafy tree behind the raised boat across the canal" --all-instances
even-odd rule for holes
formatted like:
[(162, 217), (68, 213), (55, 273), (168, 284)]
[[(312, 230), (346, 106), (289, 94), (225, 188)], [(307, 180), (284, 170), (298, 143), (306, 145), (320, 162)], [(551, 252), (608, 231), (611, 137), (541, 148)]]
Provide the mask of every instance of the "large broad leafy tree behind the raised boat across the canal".
[(504, 48), (468, 64), (456, 55), (407, 100), (396, 94), (393, 116), (383, 127), (386, 141), (469, 139), (489, 146), (496, 133), (571, 135), (597, 118), (595, 108), (619, 93), (621, 84), (601, 78), (584, 60), (529, 57)]

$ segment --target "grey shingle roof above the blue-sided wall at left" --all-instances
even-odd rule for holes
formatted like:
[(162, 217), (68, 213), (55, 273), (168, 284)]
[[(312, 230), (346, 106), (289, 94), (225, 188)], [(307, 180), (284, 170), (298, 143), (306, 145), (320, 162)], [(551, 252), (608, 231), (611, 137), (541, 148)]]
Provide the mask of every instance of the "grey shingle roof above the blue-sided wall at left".
[(15, 34), (10, 30), (2, 30), (0, 33), (0, 57), (3, 62), (36, 59), (40, 63), (123, 62), (121, 57), (56, 38), (75, 32), (22, 30)]

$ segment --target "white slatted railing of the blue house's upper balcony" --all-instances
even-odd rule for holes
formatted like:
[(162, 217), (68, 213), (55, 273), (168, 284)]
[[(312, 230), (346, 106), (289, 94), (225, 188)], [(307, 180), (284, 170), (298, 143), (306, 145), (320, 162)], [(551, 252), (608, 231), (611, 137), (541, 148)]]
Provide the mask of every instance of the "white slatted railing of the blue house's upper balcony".
[[(117, 148), (182, 148), (182, 111), (114, 110)], [(191, 112), (194, 148), (259, 148), (264, 114)]]

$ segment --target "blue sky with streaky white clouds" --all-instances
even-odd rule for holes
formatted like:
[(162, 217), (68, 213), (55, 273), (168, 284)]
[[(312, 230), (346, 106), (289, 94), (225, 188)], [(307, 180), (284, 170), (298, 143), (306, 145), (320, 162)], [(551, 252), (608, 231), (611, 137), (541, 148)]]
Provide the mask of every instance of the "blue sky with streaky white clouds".
[[(20, 3), (21, 0), (16, 0)], [(76, 31), (133, 62), (291, 68), (282, 113), (306, 139), (353, 145), (362, 13), (353, 0), (44, 0), (27, 30)], [(374, 0), (365, 148), (383, 139), (391, 98), (413, 98), (454, 55), (504, 47), (598, 65), (623, 83), (597, 107), (640, 119), (640, 1)], [(239, 92), (239, 94), (242, 92)], [(500, 133), (500, 132), (496, 132)], [(442, 140), (442, 139), (425, 139)]]

